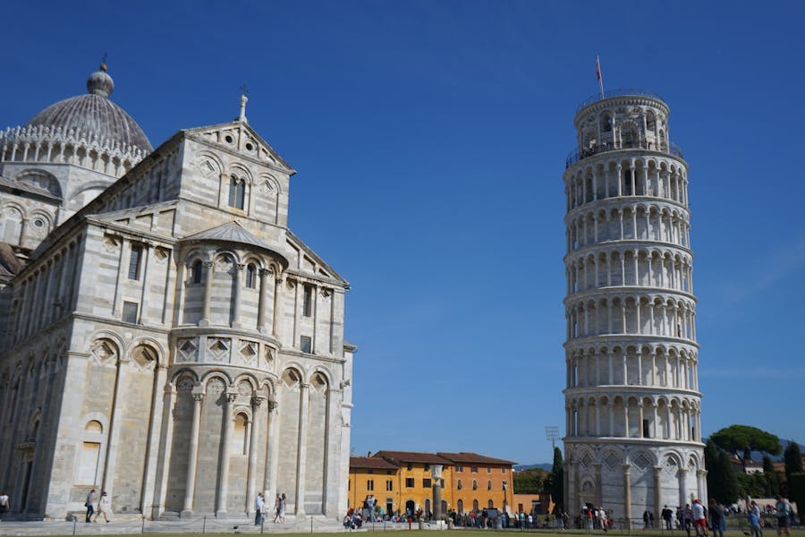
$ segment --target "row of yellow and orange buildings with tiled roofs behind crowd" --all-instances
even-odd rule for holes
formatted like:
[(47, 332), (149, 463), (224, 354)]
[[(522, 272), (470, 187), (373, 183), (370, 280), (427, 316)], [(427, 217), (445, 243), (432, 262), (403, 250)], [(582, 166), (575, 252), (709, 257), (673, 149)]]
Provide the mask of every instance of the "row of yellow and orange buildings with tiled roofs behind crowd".
[(434, 465), (443, 467), (443, 514), (487, 507), (505, 507), (513, 512), (513, 462), (475, 453), (415, 451), (378, 451), (374, 456), (350, 457), (350, 507), (362, 507), (363, 500), (373, 494), (386, 512), (431, 513)]

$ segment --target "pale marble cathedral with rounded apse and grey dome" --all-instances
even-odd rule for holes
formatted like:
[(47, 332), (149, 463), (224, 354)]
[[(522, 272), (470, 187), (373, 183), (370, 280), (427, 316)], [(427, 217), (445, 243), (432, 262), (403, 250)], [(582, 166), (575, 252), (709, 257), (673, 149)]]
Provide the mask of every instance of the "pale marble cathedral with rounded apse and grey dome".
[[(352, 353), (294, 174), (245, 115), (152, 149), (88, 94), (0, 132), (0, 491), (64, 519), (346, 510)], [(269, 500), (269, 503), (271, 500)]]

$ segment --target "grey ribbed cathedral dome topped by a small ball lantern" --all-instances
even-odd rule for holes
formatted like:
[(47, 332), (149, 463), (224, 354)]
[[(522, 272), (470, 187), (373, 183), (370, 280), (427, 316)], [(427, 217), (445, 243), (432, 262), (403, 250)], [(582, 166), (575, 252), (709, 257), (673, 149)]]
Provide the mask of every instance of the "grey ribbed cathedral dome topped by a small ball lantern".
[(25, 126), (43, 127), (51, 133), (72, 131), (108, 147), (133, 147), (143, 154), (153, 150), (140, 125), (109, 100), (114, 81), (106, 73), (106, 65), (89, 75), (87, 90), (87, 95), (67, 98), (45, 108)]

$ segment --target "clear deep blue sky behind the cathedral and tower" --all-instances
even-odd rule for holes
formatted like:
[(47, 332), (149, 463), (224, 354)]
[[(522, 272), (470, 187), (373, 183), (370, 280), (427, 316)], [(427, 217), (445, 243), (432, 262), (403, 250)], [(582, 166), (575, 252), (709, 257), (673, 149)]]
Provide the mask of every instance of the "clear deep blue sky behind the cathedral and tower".
[(0, 124), (84, 91), (154, 145), (247, 115), (292, 230), (352, 283), (352, 447), (550, 460), (563, 427), (564, 158), (597, 90), (657, 91), (691, 166), (705, 434), (805, 441), (805, 4), (14, 2)]

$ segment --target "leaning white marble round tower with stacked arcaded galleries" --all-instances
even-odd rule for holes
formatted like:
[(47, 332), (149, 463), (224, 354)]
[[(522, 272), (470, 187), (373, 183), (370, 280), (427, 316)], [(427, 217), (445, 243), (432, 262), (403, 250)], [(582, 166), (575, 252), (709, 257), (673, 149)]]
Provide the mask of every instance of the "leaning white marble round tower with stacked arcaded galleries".
[(616, 90), (576, 112), (566, 161), (565, 509), (657, 522), (706, 498), (688, 165), (669, 108)]

